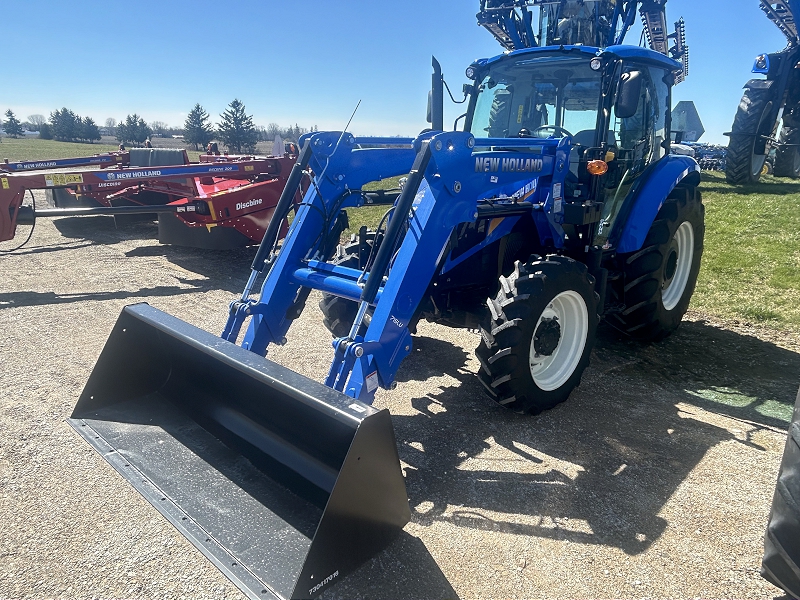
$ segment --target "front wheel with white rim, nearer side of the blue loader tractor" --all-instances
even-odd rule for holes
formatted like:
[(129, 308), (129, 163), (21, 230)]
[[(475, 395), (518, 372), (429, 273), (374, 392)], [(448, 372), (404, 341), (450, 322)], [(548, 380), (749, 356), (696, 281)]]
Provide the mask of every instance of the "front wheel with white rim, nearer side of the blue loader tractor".
[(475, 351), (489, 396), (530, 414), (564, 402), (589, 364), (598, 300), (582, 263), (565, 256), (517, 262), (489, 299), (491, 331), (481, 329)]

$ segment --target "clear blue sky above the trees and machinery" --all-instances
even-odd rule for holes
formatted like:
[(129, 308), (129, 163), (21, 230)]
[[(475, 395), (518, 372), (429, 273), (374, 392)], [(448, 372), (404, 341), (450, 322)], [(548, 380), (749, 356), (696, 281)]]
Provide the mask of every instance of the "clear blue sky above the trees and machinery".
[[(102, 124), (139, 113), (181, 125), (199, 102), (212, 120), (233, 98), (257, 124), (356, 134), (425, 126), (430, 57), (460, 96), (464, 69), (500, 53), (475, 22), (478, 0), (27, 0), (3, 2), (0, 110), (21, 120), (67, 107)], [(785, 45), (758, 0), (669, 0), (691, 47), (675, 102), (694, 100), (701, 141), (726, 143), (754, 57)], [(638, 43), (636, 32), (629, 43)], [(459, 114), (447, 109), (447, 120)]]

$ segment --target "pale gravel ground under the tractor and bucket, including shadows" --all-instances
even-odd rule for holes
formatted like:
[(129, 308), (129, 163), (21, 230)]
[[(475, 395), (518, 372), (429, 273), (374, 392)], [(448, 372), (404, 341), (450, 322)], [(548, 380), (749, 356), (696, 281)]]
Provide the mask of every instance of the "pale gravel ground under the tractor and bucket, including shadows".
[[(110, 218), (40, 222), (0, 256), (0, 598), (241, 598), (65, 423), (121, 308), (212, 332), (252, 250), (160, 246)], [(312, 296), (270, 358), (320, 380)], [(690, 313), (652, 346), (602, 331), (570, 400), (495, 407), (470, 332), (423, 324), (389, 408), (412, 506), (326, 599), (773, 598), (761, 538), (800, 339)]]

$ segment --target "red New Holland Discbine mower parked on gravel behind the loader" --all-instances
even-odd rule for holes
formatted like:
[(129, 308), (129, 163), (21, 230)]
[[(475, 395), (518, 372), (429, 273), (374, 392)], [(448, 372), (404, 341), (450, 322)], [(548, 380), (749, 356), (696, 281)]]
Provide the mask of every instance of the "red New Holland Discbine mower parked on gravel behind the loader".
[[(146, 149), (141, 154), (163, 158), (165, 151)], [(176, 154), (179, 158), (186, 156), (184, 151), (170, 151), (172, 162)], [(136, 153), (132, 151), (131, 155), (135, 157)], [(137, 215), (159, 219), (162, 243), (217, 249), (257, 243), (266, 231), (294, 159), (204, 159), (194, 164), (180, 160), (184, 164), (166, 166), (140, 160), (146, 164), (0, 173), (0, 241), (12, 239), (17, 225), (33, 225), (37, 218)], [(47, 190), (56, 208), (40, 209), (35, 202), (24, 205), (26, 194), (33, 190)]]

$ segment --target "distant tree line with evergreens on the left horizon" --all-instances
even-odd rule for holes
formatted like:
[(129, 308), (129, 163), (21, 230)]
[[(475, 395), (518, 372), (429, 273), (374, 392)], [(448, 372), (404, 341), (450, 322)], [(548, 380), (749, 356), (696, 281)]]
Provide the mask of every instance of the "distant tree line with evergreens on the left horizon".
[[(0, 120), (0, 126), (5, 125), (5, 132), (9, 137), (22, 136), (28, 130), (38, 131), (41, 139), (93, 143), (100, 140), (105, 133), (115, 136), (120, 144), (141, 145), (153, 136), (180, 135), (195, 150), (206, 148), (209, 142), (216, 140), (229, 152), (237, 154), (253, 153), (258, 142), (272, 141), (276, 136), (285, 141), (297, 142), (301, 135), (309, 132), (297, 124), (289, 127), (282, 127), (277, 123), (270, 123), (266, 127), (256, 125), (253, 116), (247, 114), (244, 103), (238, 98), (231, 101), (216, 125), (211, 123), (208, 112), (199, 103), (195, 104), (189, 111), (183, 128), (170, 127), (162, 121), (148, 124), (135, 113), (120, 122), (113, 118), (106, 119), (105, 131), (101, 131), (90, 117), (81, 117), (67, 108), (51, 112), (49, 119), (45, 119), (43, 115), (31, 115), (24, 123), (11, 110), (7, 110), (5, 114), (5, 123)], [(311, 128), (311, 131), (317, 130), (316, 126)]]

